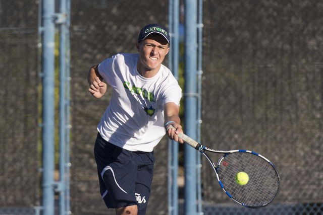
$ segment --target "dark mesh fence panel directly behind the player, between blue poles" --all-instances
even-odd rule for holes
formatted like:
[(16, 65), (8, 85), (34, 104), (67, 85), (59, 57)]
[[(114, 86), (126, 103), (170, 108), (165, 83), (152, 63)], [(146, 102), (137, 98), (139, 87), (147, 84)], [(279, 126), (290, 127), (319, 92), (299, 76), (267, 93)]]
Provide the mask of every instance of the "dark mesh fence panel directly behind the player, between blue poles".
[[(93, 155), (96, 126), (109, 105), (112, 91), (95, 99), (88, 92), (87, 72), (118, 52), (138, 53), (135, 44), (147, 24), (167, 24), (168, 1), (72, 1), (72, 212), (115, 214), (99, 193)], [(167, 62), (164, 62), (167, 65)], [(111, 90), (111, 89), (109, 89)], [(156, 163), (147, 214), (167, 213), (167, 140), (155, 148)], [(160, 201), (165, 199), (165, 201)]]

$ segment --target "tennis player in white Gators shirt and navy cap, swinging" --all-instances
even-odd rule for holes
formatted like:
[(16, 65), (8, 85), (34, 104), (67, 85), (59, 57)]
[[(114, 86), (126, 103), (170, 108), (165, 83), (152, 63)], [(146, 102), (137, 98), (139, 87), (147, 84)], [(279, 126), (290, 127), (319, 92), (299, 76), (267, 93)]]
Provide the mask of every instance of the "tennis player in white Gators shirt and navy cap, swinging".
[(153, 148), (166, 132), (180, 141), (181, 88), (171, 71), (161, 64), (170, 50), (170, 35), (157, 24), (140, 31), (139, 54), (118, 53), (90, 68), (88, 91), (95, 98), (113, 88), (97, 126), (94, 146), (100, 193), (116, 214), (145, 214), (153, 177)]

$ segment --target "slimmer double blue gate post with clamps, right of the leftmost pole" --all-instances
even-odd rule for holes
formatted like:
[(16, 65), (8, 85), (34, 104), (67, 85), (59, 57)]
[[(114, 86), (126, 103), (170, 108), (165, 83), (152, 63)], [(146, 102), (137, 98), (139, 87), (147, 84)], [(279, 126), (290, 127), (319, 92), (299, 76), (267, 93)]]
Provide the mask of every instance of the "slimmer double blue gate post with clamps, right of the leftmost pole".
[(70, 135), (70, 0), (60, 0), (60, 215), (71, 214), (69, 155)]

